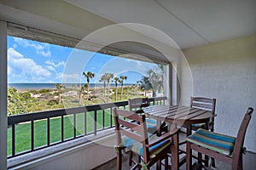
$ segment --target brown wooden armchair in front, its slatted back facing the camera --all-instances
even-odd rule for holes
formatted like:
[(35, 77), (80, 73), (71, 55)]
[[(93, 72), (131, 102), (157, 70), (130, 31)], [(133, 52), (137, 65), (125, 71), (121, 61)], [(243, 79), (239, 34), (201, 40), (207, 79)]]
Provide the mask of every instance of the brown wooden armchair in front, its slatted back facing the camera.
[(137, 155), (137, 161), (133, 161), (136, 165), (132, 169), (136, 167), (149, 169), (156, 162), (158, 162), (157, 169), (160, 169), (160, 161), (163, 159), (165, 159), (165, 169), (167, 169), (167, 153), (171, 150), (171, 138), (175, 138), (174, 140), (177, 141), (178, 129), (173, 129), (172, 132), (158, 137), (156, 134), (148, 133), (145, 115), (138, 115), (132, 111), (116, 108), (113, 109), (113, 113), (117, 139), (115, 147), (117, 169), (122, 168), (122, 150), (125, 148)]

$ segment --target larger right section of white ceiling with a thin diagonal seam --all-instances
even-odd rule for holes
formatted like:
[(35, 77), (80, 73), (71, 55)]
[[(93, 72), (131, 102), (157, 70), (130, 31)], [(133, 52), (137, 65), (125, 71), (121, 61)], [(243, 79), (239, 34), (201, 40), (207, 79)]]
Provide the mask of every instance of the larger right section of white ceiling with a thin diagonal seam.
[[(255, 0), (66, 1), (116, 23), (153, 26), (172, 37), (180, 48), (256, 32)], [(149, 36), (158, 39), (157, 36)]]

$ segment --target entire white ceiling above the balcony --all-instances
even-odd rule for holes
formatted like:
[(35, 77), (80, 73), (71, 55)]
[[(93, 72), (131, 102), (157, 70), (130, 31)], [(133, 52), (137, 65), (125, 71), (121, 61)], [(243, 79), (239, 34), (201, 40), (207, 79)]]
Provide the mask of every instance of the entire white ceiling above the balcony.
[[(78, 40), (105, 26), (138, 23), (159, 29), (179, 48), (191, 48), (256, 33), (255, 8), (255, 0), (0, 0), (0, 20)], [(135, 37), (170, 45), (164, 34), (129, 29)], [(112, 48), (166, 60), (137, 43), (115, 43)]]

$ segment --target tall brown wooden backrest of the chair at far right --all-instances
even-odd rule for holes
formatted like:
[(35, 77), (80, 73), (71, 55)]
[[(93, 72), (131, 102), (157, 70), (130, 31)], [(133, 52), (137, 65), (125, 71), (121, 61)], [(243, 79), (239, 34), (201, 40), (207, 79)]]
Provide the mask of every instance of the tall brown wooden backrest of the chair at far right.
[[(253, 108), (249, 107), (247, 113), (242, 119), (241, 125), (239, 127), (238, 133), (236, 135), (236, 142), (234, 145), (233, 159), (238, 162), (239, 156), (241, 154), (241, 147), (243, 146), (245, 134), (247, 132), (248, 124), (251, 120), (253, 114)], [(233, 161), (234, 162), (234, 161)]]

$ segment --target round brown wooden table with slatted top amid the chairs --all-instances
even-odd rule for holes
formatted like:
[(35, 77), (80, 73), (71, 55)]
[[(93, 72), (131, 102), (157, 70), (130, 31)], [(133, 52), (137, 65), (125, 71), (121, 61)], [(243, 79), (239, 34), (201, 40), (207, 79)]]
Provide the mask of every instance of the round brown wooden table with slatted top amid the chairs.
[[(152, 105), (143, 109), (145, 114), (152, 119), (157, 120), (157, 133), (160, 135), (160, 122), (171, 122), (172, 127), (181, 127), (183, 124), (187, 127), (187, 136), (192, 133), (192, 124), (206, 123), (206, 129), (212, 117), (211, 111), (191, 108), (189, 106), (180, 105)], [(178, 158), (178, 139), (173, 140), (172, 144), (172, 169), (178, 169), (185, 159), (179, 161)], [(207, 157), (206, 157), (207, 159)]]

